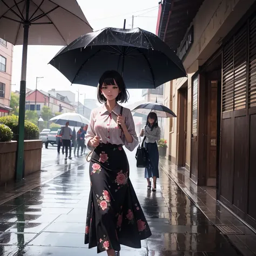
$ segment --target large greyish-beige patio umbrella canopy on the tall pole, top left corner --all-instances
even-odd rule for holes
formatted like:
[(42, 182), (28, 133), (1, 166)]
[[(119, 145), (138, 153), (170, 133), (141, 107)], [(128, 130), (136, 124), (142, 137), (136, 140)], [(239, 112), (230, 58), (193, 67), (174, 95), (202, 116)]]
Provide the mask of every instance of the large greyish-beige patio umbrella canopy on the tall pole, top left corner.
[(30, 25), (29, 44), (32, 45), (68, 45), (92, 31), (76, 0), (0, 1), (1, 38), (14, 45), (23, 44), (25, 23)]

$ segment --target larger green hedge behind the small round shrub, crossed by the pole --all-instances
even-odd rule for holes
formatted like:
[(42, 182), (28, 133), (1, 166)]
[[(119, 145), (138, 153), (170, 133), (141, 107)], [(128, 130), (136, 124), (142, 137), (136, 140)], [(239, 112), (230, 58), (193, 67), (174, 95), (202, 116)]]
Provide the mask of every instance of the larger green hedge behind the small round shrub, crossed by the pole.
[[(18, 139), (18, 116), (6, 116), (0, 117), (0, 124), (7, 125), (11, 131), (14, 133), (12, 140)], [(39, 129), (35, 124), (31, 122), (25, 121), (24, 127), (24, 139), (31, 140), (31, 139), (38, 139), (39, 136)]]

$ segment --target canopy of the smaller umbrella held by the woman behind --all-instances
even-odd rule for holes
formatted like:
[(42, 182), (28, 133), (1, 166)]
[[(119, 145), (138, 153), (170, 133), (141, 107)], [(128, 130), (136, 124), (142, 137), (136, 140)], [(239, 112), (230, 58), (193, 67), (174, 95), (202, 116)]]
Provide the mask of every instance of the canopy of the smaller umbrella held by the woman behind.
[(163, 104), (160, 103), (145, 103), (145, 104), (140, 104), (137, 107), (135, 107), (132, 112), (139, 113), (139, 114), (145, 114), (146, 116), (150, 112), (155, 112), (158, 117), (177, 117), (176, 114), (174, 114), (169, 107), (164, 106)]

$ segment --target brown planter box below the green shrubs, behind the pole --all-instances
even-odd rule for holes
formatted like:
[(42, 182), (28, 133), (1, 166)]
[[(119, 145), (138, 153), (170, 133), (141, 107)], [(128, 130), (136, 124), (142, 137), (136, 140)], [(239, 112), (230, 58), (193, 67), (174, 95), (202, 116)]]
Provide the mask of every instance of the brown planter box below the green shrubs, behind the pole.
[[(24, 177), (41, 170), (42, 140), (24, 140)], [(0, 142), (0, 184), (15, 179), (17, 142)]]

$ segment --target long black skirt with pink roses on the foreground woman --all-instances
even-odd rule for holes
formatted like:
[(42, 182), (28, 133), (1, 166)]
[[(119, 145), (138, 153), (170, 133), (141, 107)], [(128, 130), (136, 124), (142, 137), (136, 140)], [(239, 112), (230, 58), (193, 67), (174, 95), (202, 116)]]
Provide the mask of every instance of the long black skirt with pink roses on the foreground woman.
[(90, 163), (91, 191), (85, 244), (97, 253), (120, 244), (141, 248), (151, 231), (129, 179), (129, 163), (122, 146), (100, 144)]

